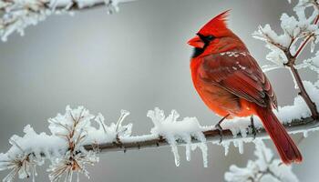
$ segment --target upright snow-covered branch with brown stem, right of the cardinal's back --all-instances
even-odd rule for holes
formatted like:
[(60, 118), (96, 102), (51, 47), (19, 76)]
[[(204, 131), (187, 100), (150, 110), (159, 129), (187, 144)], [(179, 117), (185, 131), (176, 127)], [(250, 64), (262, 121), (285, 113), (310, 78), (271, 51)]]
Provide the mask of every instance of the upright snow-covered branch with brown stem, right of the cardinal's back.
[[(307, 7), (313, 7), (314, 11), (309, 17), (306, 16), (305, 10)], [(304, 50), (308, 42), (312, 42), (311, 52), (314, 51), (314, 45), (318, 43), (318, 21), (319, 21), (319, 5), (317, 0), (300, 0), (298, 5), (293, 8), (297, 17), (283, 14), (281, 17), (281, 27), (283, 34), (278, 35), (273, 31), (270, 25), (260, 26), (258, 31), (253, 33), (253, 37), (261, 39), (266, 42), (271, 52), (266, 58), (272, 61), (275, 65), (264, 66), (264, 71), (269, 71), (278, 67), (288, 67), (293, 75), (295, 88), (299, 89), (299, 95), (302, 96), (310, 108), (312, 116), (315, 119), (319, 118), (317, 106), (304, 88), (303, 81), (296, 69), (296, 59)], [(299, 45), (298, 43), (301, 42)], [(310, 66), (312, 70), (314, 66), (309, 63), (312, 61), (307, 60), (303, 66)], [(319, 74), (319, 72), (317, 72)]]

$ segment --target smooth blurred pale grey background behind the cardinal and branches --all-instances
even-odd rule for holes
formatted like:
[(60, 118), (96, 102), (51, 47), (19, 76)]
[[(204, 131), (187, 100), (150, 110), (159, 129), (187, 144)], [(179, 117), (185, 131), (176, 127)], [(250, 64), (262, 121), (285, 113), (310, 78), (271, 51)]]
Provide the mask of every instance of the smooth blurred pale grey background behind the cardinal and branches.
[[(0, 43), (0, 152), (10, 147), (10, 136), (23, 135), (27, 124), (37, 132), (48, 132), (46, 119), (64, 113), (67, 105), (100, 112), (108, 123), (118, 119), (120, 109), (127, 109), (134, 135), (149, 133), (152, 123), (146, 114), (155, 106), (166, 113), (177, 109), (180, 116), (196, 116), (201, 125), (216, 123), (219, 117), (204, 106), (192, 86), (191, 47), (186, 42), (227, 9), (232, 9), (229, 26), (259, 64), (267, 64), (268, 50), (252, 38), (252, 32), (267, 23), (280, 30), (280, 15), (293, 14), (287, 1), (139, 0), (120, 5), (115, 15), (107, 15), (103, 7), (75, 16), (52, 15), (28, 27), (24, 37), (11, 35), (8, 42)], [(296, 91), (289, 71), (275, 70), (267, 76), (279, 105), (292, 104)], [(316, 78), (307, 71), (302, 76)], [(301, 181), (319, 177), (318, 138), (319, 133), (311, 133), (300, 144), (304, 163), (293, 166), (293, 171)], [(208, 168), (202, 166), (199, 150), (187, 162), (184, 147), (180, 147), (180, 167), (175, 167), (169, 147), (108, 153), (89, 167), (90, 181), (220, 182), (230, 165), (245, 167), (248, 159), (255, 158), (253, 148), (245, 144), (240, 155), (232, 146), (225, 157), (223, 147), (209, 145)], [(42, 168), (37, 181), (48, 181)], [(1, 172), (0, 178), (5, 174)], [(89, 180), (81, 177), (81, 181)]]

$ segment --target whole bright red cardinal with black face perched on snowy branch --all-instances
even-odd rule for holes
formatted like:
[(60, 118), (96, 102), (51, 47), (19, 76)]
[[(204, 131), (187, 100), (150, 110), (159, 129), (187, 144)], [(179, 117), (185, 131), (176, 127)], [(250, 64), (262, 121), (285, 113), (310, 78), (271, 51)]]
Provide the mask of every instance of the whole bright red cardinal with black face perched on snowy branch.
[(228, 11), (212, 18), (189, 45), (193, 84), (202, 101), (220, 116), (259, 116), (285, 164), (303, 157), (293, 139), (273, 114), (276, 96), (242, 40), (226, 25)]

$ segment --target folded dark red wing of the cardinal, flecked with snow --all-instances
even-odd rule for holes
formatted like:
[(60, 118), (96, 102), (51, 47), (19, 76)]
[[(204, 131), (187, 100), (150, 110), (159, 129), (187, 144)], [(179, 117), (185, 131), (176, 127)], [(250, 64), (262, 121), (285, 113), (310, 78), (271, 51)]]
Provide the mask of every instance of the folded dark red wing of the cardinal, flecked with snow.
[(247, 52), (227, 52), (204, 56), (199, 69), (205, 81), (221, 86), (233, 95), (259, 106), (277, 107), (276, 96), (268, 78)]

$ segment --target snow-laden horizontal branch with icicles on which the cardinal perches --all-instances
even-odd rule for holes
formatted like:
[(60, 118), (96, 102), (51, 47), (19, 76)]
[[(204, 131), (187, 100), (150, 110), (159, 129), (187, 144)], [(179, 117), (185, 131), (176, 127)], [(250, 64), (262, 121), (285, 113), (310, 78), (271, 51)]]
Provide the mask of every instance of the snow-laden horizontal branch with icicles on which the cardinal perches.
[[(310, 82), (304, 82), (309, 95), (319, 103), (319, 88)], [(311, 117), (311, 112), (301, 96), (297, 96), (293, 106), (279, 107), (276, 115), (290, 133), (304, 133), (319, 129), (319, 120)], [(214, 126), (201, 126), (196, 117), (179, 119), (172, 110), (169, 116), (159, 108), (150, 110), (148, 116), (154, 124), (150, 133), (144, 136), (132, 136), (132, 124), (123, 125), (129, 112), (122, 110), (115, 123), (107, 125), (101, 114), (94, 116), (83, 106), (75, 109), (67, 106), (64, 115), (49, 118), (50, 134), (37, 134), (31, 126), (24, 129), (25, 136), (12, 136), (12, 147), (0, 154), (0, 170), (9, 169), (4, 182), (19, 178), (36, 177), (36, 167), (51, 161), (47, 169), (51, 181), (70, 182), (83, 174), (88, 176), (87, 165), (98, 162), (98, 153), (108, 151), (128, 151), (143, 147), (170, 146), (176, 166), (180, 165), (178, 145), (186, 147), (186, 158), (190, 160), (190, 151), (200, 147), (204, 167), (208, 166), (207, 142), (225, 147), (225, 154), (231, 143), (243, 152), (243, 143), (254, 141), (254, 137), (268, 138), (258, 118), (255, 126), (256, 136), (252, 134), (249, 118), (235, 118), (221, 124), (220, 131)], [(256, 123), (257, 122), (257, 123)], [(98, 126), (94, 126), (94, 123)], [(222, 136), (222, 141), (220, 142)], [(74, 177), (74, 176), (77, 177)]]

